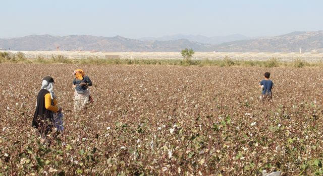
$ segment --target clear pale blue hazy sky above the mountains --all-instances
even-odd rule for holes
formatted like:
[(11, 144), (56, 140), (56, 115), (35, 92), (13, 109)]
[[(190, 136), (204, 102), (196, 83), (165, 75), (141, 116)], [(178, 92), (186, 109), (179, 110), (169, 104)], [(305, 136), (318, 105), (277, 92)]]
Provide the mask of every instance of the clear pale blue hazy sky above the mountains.
[(0, 6), (0, 38), (32, 34), (257, 37), (323, 30), (321, 0), (0, 0)]

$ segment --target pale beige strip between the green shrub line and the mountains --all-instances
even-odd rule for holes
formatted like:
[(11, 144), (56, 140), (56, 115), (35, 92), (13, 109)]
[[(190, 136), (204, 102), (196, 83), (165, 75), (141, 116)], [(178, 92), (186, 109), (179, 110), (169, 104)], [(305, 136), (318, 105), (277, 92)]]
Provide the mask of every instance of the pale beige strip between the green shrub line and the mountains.
[[(95, 57), (100, 59), (183, 59), (180, 52), (90, 52), (90, 51), (11, 51), (22, 52), (27, 58), (43, 57), (46, 59), (52, 56), (64, 56), (69, 59), (86, 59)], [(192, 59), (196, 60), (223, 60), (229, 57), (232, 60), (257, 60), (265, 61), (271, 58), (279, 59), (282, 62), (292, 62), (295, 59), (302, 59), (307, 62), (319, 62), (323, 60), (323, 53), (269, 53), (269, 52), (196, 52)]]

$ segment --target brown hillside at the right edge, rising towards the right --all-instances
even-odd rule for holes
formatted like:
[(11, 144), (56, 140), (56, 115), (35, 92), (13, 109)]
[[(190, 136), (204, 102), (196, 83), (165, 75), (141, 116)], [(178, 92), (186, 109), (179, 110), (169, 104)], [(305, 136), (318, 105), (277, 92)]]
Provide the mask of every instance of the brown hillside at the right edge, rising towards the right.
[(214, 50), (222, 52), (323, 52), (323, 31), (292, 32), (254, 40), (223, 43)]

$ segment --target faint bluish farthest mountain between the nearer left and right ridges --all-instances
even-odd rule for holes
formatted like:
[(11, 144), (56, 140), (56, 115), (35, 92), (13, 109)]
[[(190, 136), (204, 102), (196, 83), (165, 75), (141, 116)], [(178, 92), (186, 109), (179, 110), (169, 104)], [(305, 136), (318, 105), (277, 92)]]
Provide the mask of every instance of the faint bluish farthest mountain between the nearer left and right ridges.
[(164, 36), (164, 37), (143, 37), (139, 38), (138, 40), (142, 41), (153, 41), (153, 40), (158, 40), (158, 41), (168, 41), (168, 40), (179, 40), (179, 39), (187, 39), (190, 41), (194, 42), (199, 42), (199, 43), (208, 43), (208, 44), (221, 44), (225, 42), (232, 42), (236, 40), (247, 40), (251, 39), (250, 37), (246, 37), (241, 34), (234, 34), (234, 35), (228, 35), (228, 36), (216, 36), (216, 37), (205, 37), (202, 35), (170, 35), (170, 36)]

